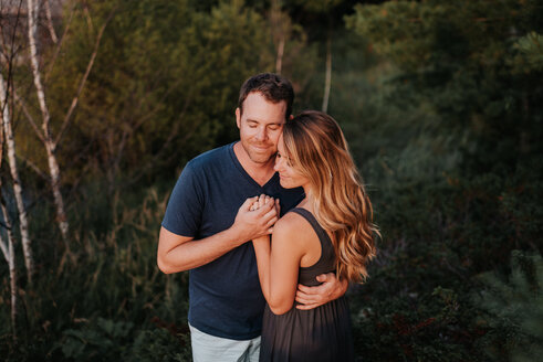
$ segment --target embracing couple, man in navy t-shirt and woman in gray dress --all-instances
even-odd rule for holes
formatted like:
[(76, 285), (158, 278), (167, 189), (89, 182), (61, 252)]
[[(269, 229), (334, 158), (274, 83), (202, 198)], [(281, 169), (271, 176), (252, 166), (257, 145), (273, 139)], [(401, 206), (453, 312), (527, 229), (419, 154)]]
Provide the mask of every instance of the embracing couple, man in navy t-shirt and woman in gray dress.
[(240, 91), (240, 140), (187, 163), (161, 224), (164, 273), (190, 269), (199, 361), (353, 361), (345, 291), (375, 254), (372, 205), (337, 123), (292, 117), (284, 77)]

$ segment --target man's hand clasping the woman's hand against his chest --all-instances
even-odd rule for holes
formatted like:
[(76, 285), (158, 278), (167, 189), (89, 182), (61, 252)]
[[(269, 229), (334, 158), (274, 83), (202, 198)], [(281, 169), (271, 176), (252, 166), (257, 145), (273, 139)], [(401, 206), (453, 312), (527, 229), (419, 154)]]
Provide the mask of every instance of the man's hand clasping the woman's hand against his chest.
[[(253, 204), (259, 202), (260, 199), (262, 199), (260, 207), (253, 210)], [(232, 228), (239, 233), (240, 241), (244, 243), (259, 236), (271, 234), (272, 226), (278, 221), (278, 217), (279, 214), (274, 202), (265, 202), (263, 195), (261, 198), (254, 196), (247, 199), (241, 205)]]

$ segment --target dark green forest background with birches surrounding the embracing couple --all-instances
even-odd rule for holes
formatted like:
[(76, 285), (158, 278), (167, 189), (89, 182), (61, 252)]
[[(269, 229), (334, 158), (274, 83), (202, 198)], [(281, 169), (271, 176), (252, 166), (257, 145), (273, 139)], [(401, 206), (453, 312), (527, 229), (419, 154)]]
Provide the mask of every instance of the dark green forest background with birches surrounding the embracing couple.
[(158, 232), (249, 76), (342, 126), (359, 361), (541, 361), (543, 2), (0, 0), (0, 359), (190, 361)]

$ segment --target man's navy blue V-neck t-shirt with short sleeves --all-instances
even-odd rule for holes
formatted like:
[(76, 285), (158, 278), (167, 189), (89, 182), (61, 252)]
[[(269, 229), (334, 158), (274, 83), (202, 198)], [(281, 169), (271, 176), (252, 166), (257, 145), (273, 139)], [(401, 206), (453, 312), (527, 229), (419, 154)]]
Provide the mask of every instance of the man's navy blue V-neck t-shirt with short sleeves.
[[(201, 239), (233, 224), (241, 204), (252, 196), (279, 198), (284, 214), (303, 199), (303, 189), (286, 190), (275, 173), (258, 184), (241, 167), (230, 143), (187, 163), (177, 180), (163, 220), (169, 232)], [(221, 338), (260, 336), (265, 299), (260, 289), (252, 243), (190, 270), (189, 322)]]

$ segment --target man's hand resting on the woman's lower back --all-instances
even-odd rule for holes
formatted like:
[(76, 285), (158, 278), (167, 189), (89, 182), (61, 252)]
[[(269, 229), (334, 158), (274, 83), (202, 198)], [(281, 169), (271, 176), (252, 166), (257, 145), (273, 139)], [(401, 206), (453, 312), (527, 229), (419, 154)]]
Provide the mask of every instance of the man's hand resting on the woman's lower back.
[(347, 291), (348, 281), (338, 280), (334, 273), (321, 274), (316, 280), (323, 283), (316, 287), (297, 285), (296, 301), (297, 309), (309, 310), (340, 298)]

